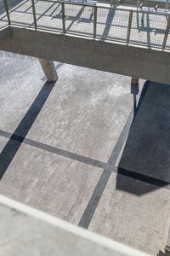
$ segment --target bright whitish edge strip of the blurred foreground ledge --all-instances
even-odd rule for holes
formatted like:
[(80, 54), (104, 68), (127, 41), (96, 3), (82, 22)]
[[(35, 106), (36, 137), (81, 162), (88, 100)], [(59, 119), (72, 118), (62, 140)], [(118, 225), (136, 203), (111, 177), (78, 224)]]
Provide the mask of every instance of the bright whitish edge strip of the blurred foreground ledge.
[[(3, 195), (0, 195), (0, 204), (2, 206), (8, 207), (17, 212), (24, 213), (31, 218), (37, 218), (38, 220), (41, 220), (42, 222), (46, 222), (47, 224), (54, 226), (56, 228), (56, 232), (57, 232), (57, 229), (64, 230), (66, 233), (71, 233), (72, 236), (78, 236), (78, 237), (82, 238), (83, 240), (91, 241), (94, 244), (96, 244), (96, 246), (105, 247), (105, 248), (107, 248), (107, 250), (110, 251), (110, 253), (112, 251), (113, 255), (131, 255), (131, 256), (147, 256), (147, 255), (149, 255), (146, 253), (139, 252), (138, 250), (133, 249), (131, 247), (122, 245), (121, 243), (119, 243), (117, 241), (112, 241), (103, 236), (94, 234), (88, 230), (83, 230), (82, 228), (77, 227), (76, 225), (69, 224), (59, 218), (54, 218), (54, 217), (48, 215), (47, 213), (44, 213), (44, 212), (36, 210), (32, 207), (23, 205), (20, 202), (9, 199)], [(41, 232), (41, 230), (39, 230), (39, 231)], [(77, 239), (77, 238), (75, 237), (75, 239)], [(55, 244), (55, 246), (56, 246), (56, 244)], [(88, 248), (87, 248), (87, 253), (88, 253)], [(105, 255), (107, 255), (107, 254), (105, 254)]]

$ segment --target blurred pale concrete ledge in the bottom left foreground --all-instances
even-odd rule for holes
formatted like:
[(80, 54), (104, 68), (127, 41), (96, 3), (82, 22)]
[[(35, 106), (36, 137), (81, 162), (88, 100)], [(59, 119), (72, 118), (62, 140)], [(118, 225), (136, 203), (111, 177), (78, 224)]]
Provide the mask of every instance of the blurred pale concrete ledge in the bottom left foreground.
[(1, 256), (149, 256), (2, 195), (0, 218)]

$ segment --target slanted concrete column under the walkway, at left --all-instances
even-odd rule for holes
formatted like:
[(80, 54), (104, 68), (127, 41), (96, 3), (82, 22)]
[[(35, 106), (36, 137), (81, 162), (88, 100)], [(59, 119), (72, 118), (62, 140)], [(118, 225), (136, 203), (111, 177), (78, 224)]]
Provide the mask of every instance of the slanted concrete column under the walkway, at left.
[(55, 82), (58, 79), (58, 75), (54, 67), (54, 61), (44, 59), (39, 59), (39, 61), (48, 82)]

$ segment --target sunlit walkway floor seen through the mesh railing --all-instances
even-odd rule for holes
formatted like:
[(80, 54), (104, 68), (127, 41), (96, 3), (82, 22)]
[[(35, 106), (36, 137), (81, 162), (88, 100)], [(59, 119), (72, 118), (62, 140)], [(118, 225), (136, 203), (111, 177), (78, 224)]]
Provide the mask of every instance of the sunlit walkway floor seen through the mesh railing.
[[(3, 0), (0, 12), (0, 26), (4, 26), (7, 17), (4, 12)], [(9, 15), (12, 25), (34, 27), (31, 0), (8, 1)], [(124, 7), (122, 7), (124, 8)], [(125, 9), (98, 8), (96, 38), (105, 38), (116, 42), (127, 41), (127, 26), (129, 10), (136, 10), (135, 6), (126, 6)], [(62, 8), (56, 1), (38, 0), (35, 2), (37, 29), (62, 32)], [(161, 9), (161, 13), (165, 13)], [(144, 20), (144, 21), (142, 21)], [(132, 29), (129, 38), (130, 44), (141, 44), (161, 48), (167, 27), (167, 17), (156, 13), (142, 15), (133, 12)], [(65, 32), (85, 37), (94, 36), (94, 9), (65, 3)], [(167, 49), (170, 41), (167, 38)]]

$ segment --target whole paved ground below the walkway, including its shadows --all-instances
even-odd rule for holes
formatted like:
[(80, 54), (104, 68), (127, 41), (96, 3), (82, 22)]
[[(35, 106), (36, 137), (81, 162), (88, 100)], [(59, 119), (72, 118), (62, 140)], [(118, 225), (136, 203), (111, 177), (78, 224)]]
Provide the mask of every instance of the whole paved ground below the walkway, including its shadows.
[[(156, 255), (170, 216), (170, 88), (0, 53), (0, 193)], [(144, 84), (144, 88), (143, 88)], [(133, 122), (133, 123), (132, 123)]]

